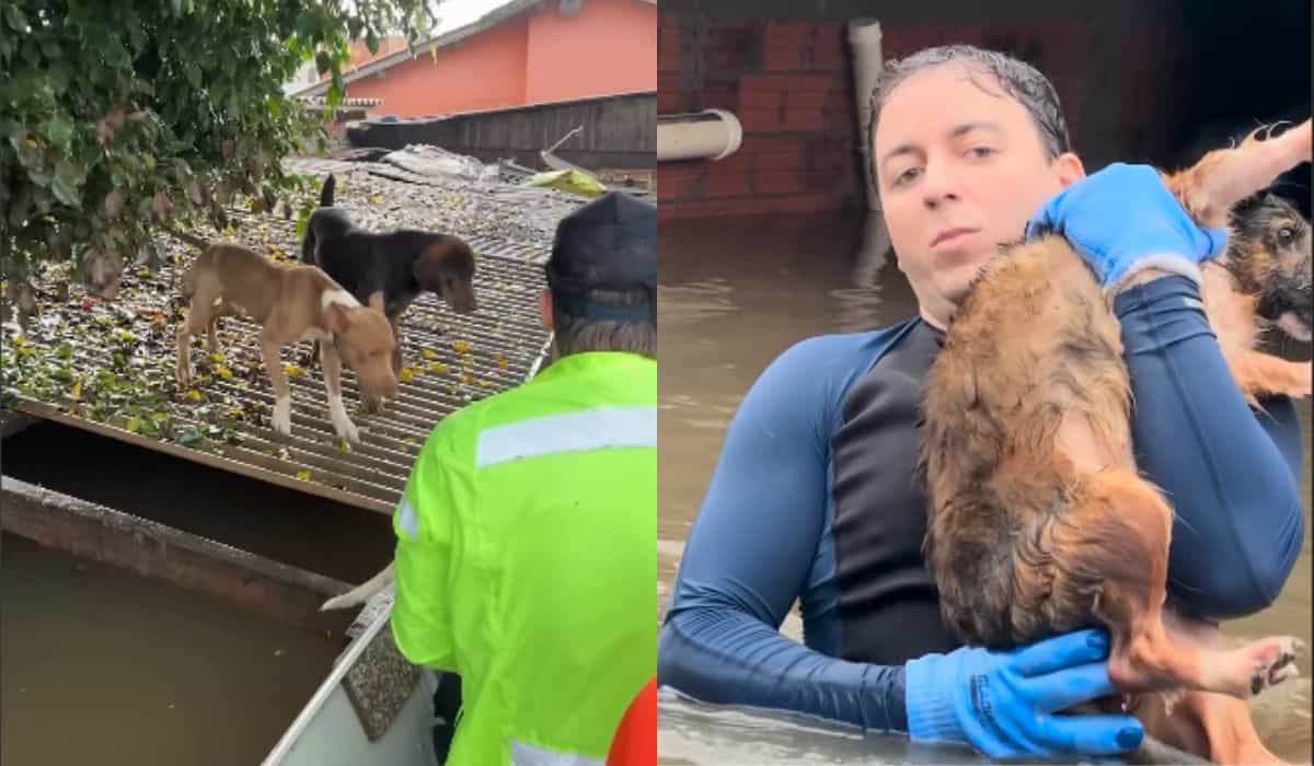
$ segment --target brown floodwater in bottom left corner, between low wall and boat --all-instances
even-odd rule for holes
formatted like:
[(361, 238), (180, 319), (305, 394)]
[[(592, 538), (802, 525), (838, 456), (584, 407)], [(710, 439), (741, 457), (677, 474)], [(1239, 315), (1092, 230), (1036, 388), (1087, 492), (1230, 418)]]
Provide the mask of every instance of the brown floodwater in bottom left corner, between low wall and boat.
[(7, 766), (259, 763), (340, 642), (5, 535)]

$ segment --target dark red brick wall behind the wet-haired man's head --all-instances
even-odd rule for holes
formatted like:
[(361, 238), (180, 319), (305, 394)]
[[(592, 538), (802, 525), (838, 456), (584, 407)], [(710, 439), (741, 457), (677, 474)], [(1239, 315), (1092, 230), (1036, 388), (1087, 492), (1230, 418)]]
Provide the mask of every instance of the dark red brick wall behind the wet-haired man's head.
[[(984, 14), (984, 13), (983, 13)], [(984, 14), (988, 16), (988, 14)], [(691, 218), (865, 206), (850, 47), (842, 22), (721, 21), (660, 14), (658, 113), (729, 109), (740, 151), (657, 166), (660, 215)], [(951, 42), (1007, 50), (1058, 89), (1074, 145), (1093, 171), (1169, 151), (1185, 117), (1183, 32), (1148, 18), (1100, 47), (1092, 22), (883, 24), (883, 56)]]

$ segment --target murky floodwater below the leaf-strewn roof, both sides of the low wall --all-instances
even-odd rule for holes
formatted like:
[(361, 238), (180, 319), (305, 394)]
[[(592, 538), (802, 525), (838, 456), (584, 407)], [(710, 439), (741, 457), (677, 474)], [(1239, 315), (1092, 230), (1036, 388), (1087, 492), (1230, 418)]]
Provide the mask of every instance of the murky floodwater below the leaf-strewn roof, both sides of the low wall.
[[(390, 556), (382, 514), (63, 426), (5, 439), (3, 460), (8, 476), (347, 582)], [(255, 766), (346, 646), (22, 537), (0, 547), (5, 766)]]

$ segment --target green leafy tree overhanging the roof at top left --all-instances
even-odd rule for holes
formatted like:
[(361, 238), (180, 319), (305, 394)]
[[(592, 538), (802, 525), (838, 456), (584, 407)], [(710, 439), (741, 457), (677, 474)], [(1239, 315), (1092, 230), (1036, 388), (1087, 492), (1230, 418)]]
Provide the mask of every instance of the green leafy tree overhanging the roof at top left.
[[(348, 45), (414, 43), (435, 0), (4, 0), (0, 3), (0, 268), (70, 261), (113, 297), (160, 227), (243, 198), (272, 210), (302, 181), (281, 159), (323, 148)], [(327, 106), (283, 92), (314, 59)], [(305, 205), (313, 204), (310, 197)], [(305, 206), (302, 206), (305, 213)]]

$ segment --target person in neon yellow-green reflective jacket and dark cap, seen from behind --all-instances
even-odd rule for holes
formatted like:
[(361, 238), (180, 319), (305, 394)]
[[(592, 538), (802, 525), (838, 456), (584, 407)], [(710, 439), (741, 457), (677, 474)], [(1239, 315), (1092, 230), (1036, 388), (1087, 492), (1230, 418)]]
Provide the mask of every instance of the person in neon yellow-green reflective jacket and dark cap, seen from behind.
[(461, 678), (447, 763), (598, 763), (656, 671), (656, 208), (561, 221), (552, 361), (444, 418), (393, 527), (392, 629)]

